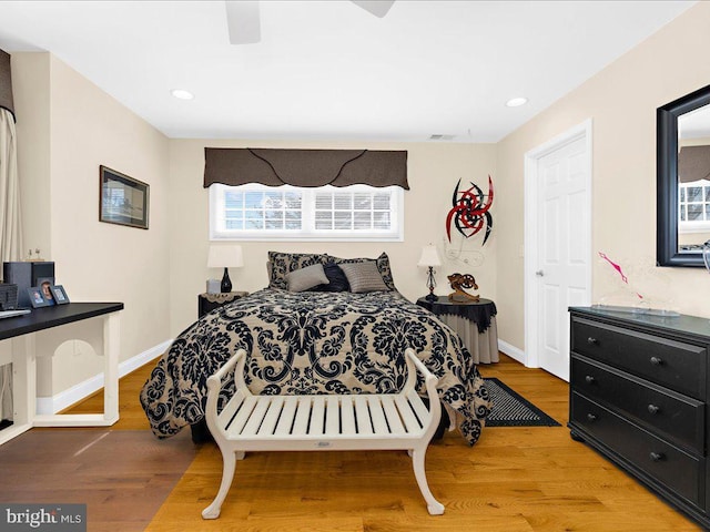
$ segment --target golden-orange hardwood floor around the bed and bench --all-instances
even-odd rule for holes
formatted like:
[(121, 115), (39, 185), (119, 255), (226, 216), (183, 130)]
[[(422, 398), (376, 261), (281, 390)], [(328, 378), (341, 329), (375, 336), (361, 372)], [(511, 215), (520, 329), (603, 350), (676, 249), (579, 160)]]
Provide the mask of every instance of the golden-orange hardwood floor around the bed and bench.
[[(138, 402), (152, 364), (121, 381), (113, 430), (148, 430)], [(214, 444), (195, 458), (145, 530), (191, 531), (696, 531), (691, 521), (566, 428), (568, 387), (506, 357), (481, 366), (561, 427), (486, 428), (473, 448), (457, 432), (430, 446), (427, 475), (446, 505), (429, 516), (404, 452), (255, 452), (240, 461), (216, 521), (201, 511), (216, 493)], [(97, 411), (101, 396), (72, 411)], [(192, 446), (187, 438), (183, 444)], [(28, 471), (31, 474), (31, 471)], [(132, 472), (126, 471), (126, 475)], [(110, 503), (110, 502), (109, 502)], [(120, 523), (112, 523), (121, 530)]]

